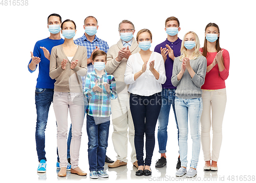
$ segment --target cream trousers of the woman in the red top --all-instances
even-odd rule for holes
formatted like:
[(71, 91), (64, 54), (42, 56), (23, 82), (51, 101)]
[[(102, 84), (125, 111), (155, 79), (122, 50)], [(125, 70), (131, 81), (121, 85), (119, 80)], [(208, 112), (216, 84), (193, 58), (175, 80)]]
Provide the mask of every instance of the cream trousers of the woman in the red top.
[[(226, 88), (203, 89), (203, 112), (201, 116), (201, 143), (204, 161), (218, 162), (222, 143), (222, 121), (226, 107)], [(210, 153), (210, 128), (212, 126), (212, 154)]]

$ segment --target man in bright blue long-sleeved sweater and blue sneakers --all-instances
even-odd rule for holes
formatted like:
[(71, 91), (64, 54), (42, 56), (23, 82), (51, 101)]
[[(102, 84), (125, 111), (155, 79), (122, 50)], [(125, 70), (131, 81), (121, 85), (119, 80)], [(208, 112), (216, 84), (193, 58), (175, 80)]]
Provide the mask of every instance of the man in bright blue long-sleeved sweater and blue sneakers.
[(48, 16), (48, 29), (50, 37), (39, 40), (35, 43), (34, 51), (31, 52), (31, 60), (28, 70), (33, 73), (39, 65), (39, 73), (35, 89), (36, 105), (36, 151), (39, 161), (37, 172), (46, 172), (46, 152), (45, 152), (45, 129), (48, 120), (49, 107), (53, 101), (55, 79), (49, 76), (50, 53), (53, 47), (64, 42), (60, 37), (61, 17), (58, 14)]

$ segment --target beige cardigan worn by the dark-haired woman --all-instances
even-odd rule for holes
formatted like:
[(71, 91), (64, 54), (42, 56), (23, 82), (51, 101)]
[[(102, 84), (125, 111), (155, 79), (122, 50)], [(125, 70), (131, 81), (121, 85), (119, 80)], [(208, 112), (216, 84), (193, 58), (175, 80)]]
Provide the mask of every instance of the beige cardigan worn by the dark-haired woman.
[[(67, 59), (65, 70), (61, 68), (61, 62)], [(81, 93), (82, 80), (80, 76), (87, 74), (87, 49), (78, 45), (73, 60), (78, 60), (77, 66), (72, 70), (68, 57), (65, 55), (62, 44), (52, 48), (50, 58), (50, 77), (55, 79), (54, 91)]]

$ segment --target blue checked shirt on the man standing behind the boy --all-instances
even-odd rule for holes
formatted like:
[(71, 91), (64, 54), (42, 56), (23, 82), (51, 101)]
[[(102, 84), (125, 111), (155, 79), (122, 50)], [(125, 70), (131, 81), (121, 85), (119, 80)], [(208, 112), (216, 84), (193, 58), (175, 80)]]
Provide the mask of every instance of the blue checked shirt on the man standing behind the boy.
[[(95, 38), (92, 42), (90, 42), (86, 35), (82, 35), (82, 37), (79, 37), (77, 38), (76, 40), (74, 40), (74, 43), (75, 44), (78, 44), (78, 45), (82, 45), (84, 47), (86, 47), (87, 49), (87, 58), (90, 58), (91, 57), (91, 54), (93, 52), (93, 50), (96, 49), (96, 46), (104, 51), (105, 53), (108, 52), (109, 50), (109, 45), (106, 41), (103, 41), (102, 39), (98, 38), (96, 35), (95, 35)], [(92, 63), (89, 63), (87, 65), (87, 73), (91, 73), (92, 71), (94, 71), (94, 67), (92, 65)], [(84, 85), (86, 83), (86, 77), (82, 77), (82, 88), (84, 88)]]

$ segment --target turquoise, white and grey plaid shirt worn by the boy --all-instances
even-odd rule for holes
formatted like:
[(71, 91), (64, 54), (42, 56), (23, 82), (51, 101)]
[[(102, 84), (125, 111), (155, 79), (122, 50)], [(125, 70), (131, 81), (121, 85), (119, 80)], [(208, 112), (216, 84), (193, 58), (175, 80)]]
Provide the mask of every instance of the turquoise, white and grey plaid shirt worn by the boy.
[[(98, 86), (103, 89), (102, 92), (93, 91), (92, 88), (95, 86), (96, 80), (98, 80)], [(106, 91), (103, 85), (104, 82), (110, 84), (110, 94)], [(86, 107), (88, 115), (93, 117), (109, 117), (111, 115), (110, 100), (117, 98), (116, 81), (114, 76), (107, 74), (106, 71), (101, 78), (96, 74), (95, 70), (88, 73), (83, 94), (89, 100)]]

